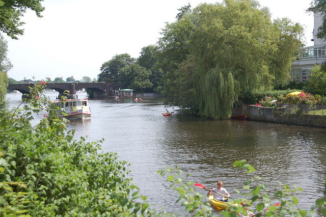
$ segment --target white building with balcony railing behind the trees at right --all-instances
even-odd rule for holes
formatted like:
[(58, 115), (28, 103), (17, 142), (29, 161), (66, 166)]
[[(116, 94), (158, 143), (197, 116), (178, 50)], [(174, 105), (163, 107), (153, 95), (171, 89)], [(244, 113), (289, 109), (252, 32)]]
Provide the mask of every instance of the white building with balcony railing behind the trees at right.
[(314, 30), (313, 41), (314, 46), (303, 47), (297, 59), (292, 63), (292, 70), (290, 72), (291, 80), (296, 83), (306, 83), (311, 69), (315, 65), (319, 65), (326, 60), (326, 48), (324, 39), (317, 38), (318, 27), (322, 24), (322, 14), (314, 14)]

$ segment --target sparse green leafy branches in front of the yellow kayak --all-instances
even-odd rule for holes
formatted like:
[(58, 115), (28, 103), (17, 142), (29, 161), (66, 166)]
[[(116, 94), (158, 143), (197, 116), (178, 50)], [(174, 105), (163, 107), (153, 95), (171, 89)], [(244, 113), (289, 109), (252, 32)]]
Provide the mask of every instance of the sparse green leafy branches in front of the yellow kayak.
[[(255, 168), (247, 164), (246, 160), (237, 160), (233, 167), (246, 171), (250, 175), (250, 179), (243, 186), (243, 191), (235, 189), (241, 198), (229, 199), (235, 205), (230, 206), (227, 210), (222, 210), (221, 214), (226, 217), (239, 217), (242, 213), (246, 215), (246, 210), (241, 206), (242, 203), (247, 202), (256, 209), (255, 216), (326, 216), (326, 179), (324, 182), (324, 189), (322, 190), (323, 197), (317, 198), (311, 210), (307, 211), (300, 209), (299, 201), (295, 197), (295, 192), (303, 191), (302, 188), (294, 186), (291, 188), (287, 184), (279, 182), (279, 190), (273, 196), (268, 196), (266, 193), (266, 186), (260, 176), (255, 175)], [(160, 170), (158, 173), (161, 176), (167, 177), (171, 182), (170, 187), (178, 191), (179, 198), (177, 202), (181, 202), (181, 206), (192, 216), (213, 216), (212, 209), (209, 203), (204, 199), (206, 196), (198, 193), (194, 188), (194, 182), (184, 181), (185, 176), (182, 171), (176, 168), (166, 168)], [(189, 176), (191, 174), (188, 174)], [(186, 176), (186, 177), (187, 177)], [(205, 194), (206, 195), (206, 194)], [(202, 202), (204, 199), (204, 202)], [(280, 202), (279, 205), (275, 203)]]

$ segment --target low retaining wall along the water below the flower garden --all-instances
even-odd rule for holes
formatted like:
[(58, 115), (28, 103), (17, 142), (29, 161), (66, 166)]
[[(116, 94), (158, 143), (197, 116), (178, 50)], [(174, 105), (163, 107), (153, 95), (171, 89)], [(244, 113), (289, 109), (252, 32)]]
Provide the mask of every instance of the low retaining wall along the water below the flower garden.
[(241, 105), (238, 108), (233, 108), (232, 114), (247, 115), (249, 120), (326, 128), (326, 116), (288, 114), (284, 112), (283, 108), (277, 107)]

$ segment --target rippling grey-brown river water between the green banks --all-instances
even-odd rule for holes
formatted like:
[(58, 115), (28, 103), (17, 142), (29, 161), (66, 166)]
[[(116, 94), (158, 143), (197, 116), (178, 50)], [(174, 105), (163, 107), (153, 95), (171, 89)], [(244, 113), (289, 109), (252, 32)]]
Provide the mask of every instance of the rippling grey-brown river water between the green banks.
[[(80, 93), (78, 98), (82, 98)], [(55, 97), (58, 93), (48, 93)], [(16, 106), (20, 94), (8, 94)], [(215, 187), (222, 180), (224, 187), (236, 198), (234, 189), (242, 189), (250, 178), (233, 168), (239, 159), (247, 161), (263, 178), (268, 194), (275, 202), (274, 192), (279, 182), (303, 192), (295, 195), (300, 208), (309, 210), (326, 176), (326, 128), (314, 128), (259, 121), (207, 120), (183, 115), (177, 108), (166, 112), (162, 99), (144, 98), (135, 102), (126, 100), (90, 100), (92, 118), (71, 120), (69, 130), (75, 129), (75, 138), (88, 135), (87, 141), (104, 138), (102, 151), (116, 152), (120, 160), (131, 163), (133, 183), (151, 204), (164, 206), (168, 211), (184, 215), (180, 204), (175, 204), (178, 193), (169, 189), (158, 170), (178, 166), (184, 174), (193, 173), (187, 180)], [(42, 117), (36, 116), (36, 121)], [(204, 189), (196, 189), (206, 194)]]

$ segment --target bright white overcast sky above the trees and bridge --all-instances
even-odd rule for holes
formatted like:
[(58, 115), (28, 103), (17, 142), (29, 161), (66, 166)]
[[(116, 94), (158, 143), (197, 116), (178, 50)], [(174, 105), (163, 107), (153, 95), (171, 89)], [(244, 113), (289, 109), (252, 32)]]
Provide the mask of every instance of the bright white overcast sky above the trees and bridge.
[[(178, 9), (200, 0), (44, 0), (43, 17), (28, 12), (22, 18), (24, 35), (8, 41), (8, 58), (15, 80), (83, 76), (97, 78), (101, 65), (121, 53), (133, 58), (143, 47), (155, 44), (165, 22), (174, 22)], [(306, 44), (313, 45), (310, 0), (260, 0), (272, 18), (290, 18), (306, 30)]]

